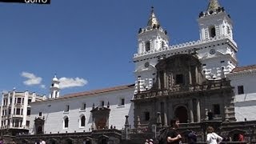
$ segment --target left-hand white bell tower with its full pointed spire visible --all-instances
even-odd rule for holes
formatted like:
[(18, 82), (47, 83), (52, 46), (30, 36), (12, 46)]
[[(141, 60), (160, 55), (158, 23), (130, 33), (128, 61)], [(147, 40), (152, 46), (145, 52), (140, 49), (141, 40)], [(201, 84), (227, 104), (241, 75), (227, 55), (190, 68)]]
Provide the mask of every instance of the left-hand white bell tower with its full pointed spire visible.
[(156, 77), (155, 65), (162, 57), (159, 51), (168, 48), (168, 39), (167, 32), (162, 29), (152, 6), (146, 27), (138, 30), (138, 52), (134, 54), (134, 74), (137, 78), (135, 93), (149, 90), (153, 86)]

